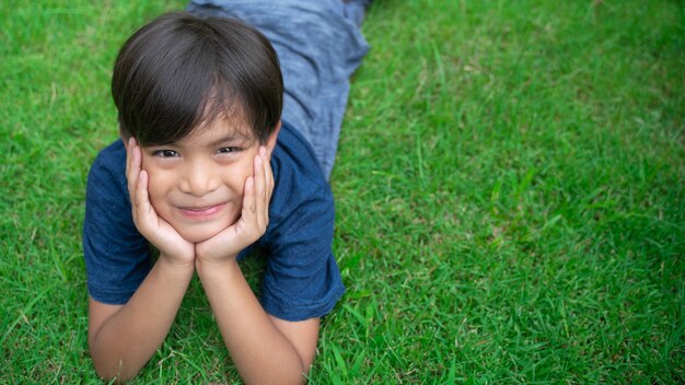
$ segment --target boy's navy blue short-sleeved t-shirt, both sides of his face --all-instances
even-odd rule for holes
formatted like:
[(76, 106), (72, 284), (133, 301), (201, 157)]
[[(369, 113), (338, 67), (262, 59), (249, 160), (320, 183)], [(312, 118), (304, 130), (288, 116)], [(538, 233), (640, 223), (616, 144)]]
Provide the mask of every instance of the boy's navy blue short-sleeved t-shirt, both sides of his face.
[[(262, 305), (287, 320), (323, 316), (345, 292), (332, 248), (330, 187), (306, 140), (285, 121), (271, 168), (269, 225), (253, 245), (267, 256)], [(83, 254), (89, 294), (107, 304), (125, 304), (152, 267), (131, 217), (121, 140), (102, 150), (89, 173)]]

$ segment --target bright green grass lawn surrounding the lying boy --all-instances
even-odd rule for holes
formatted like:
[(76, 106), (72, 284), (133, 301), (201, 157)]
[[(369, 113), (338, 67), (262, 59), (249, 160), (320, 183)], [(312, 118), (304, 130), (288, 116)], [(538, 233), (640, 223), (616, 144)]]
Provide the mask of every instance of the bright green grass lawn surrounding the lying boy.
[[(97, 383), (85, 176), (117, 48), (183, 5), (140, 3), (0, 4), (0, 383)], [(311, 382), (685, 382), (683, 25), (669, 0), (376, 1)], [(194, 282), (135, 383), (237, 381)]]

